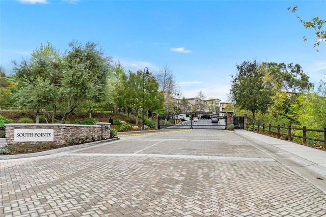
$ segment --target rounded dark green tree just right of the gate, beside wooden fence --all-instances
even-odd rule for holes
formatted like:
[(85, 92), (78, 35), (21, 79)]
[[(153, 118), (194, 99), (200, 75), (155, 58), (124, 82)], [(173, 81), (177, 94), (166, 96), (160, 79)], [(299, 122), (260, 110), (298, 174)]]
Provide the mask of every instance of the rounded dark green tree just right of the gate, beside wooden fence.
[(265, 113), (271, 103), (271, 85), (264, 81), (256, 60), (243, 61), (236, 68), (238, 73), (232, 76), (230, 95), (237, 107), (252, 112), (255, 123), (256, 112)]

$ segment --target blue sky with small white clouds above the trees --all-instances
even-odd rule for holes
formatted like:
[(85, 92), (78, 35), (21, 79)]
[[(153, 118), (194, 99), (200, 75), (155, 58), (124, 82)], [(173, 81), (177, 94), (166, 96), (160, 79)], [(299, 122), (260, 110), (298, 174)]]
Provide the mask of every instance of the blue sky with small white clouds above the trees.
[(326, 19), (322, 0), (0, 0), (0, 64), (9, 75), (11, 60), (28, 59), (41, 43), (64, 52), (77, 40), (98, 43), (126, 71), (168, 66), (186, 98), (201, 90), (227, 101), (235, 65), (254, 59), (300, 64), (318, 85), (326, 43), (313, 47), (314, 31), (287, 11), (294, 6), (305, 20)]

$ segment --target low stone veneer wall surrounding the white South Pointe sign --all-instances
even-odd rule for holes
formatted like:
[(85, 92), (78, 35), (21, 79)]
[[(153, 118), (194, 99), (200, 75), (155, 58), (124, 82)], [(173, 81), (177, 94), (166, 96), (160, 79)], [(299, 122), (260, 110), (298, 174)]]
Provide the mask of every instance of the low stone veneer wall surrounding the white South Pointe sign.
[[(15, 129), (53, 129), (53, 141), (17, 142), (14, 141)], [(45, 143), (65, 145), (76, 139), (89, 138), (87, 141), (110, 138), (111, 123), (98, 122), (96, 125), (67, 125), (55, 123), (8, 123), (6, 124), (6, 145), (25, 143)]]

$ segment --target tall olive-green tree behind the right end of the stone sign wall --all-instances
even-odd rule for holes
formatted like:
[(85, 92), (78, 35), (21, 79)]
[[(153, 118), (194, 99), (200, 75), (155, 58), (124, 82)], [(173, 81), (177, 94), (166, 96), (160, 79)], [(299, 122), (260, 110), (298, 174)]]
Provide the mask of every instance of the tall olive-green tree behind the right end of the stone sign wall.
[(73, 41), (69, 47), (64, 57), (67, 67), (63, 77), (65, 88), (61, 93), (67, 107), (62, 122), (85, 101), (91, 117), (95, 103), (107, 97), (108, 76), (113, 72), (112, 57), (105, 56), (98, 44), (87, 42), (83, 45)]

